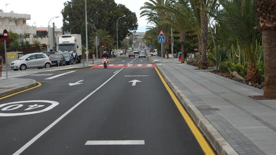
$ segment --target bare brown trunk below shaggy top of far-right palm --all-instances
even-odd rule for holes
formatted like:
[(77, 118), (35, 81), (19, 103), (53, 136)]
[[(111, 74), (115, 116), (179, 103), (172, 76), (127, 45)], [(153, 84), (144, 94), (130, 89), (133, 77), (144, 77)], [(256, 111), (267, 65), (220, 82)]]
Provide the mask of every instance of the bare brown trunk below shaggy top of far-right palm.
[(276, 98), (276, 30), (263, 30), (264, 48), (264, 93), (267, 98)]

